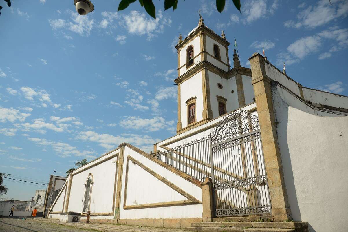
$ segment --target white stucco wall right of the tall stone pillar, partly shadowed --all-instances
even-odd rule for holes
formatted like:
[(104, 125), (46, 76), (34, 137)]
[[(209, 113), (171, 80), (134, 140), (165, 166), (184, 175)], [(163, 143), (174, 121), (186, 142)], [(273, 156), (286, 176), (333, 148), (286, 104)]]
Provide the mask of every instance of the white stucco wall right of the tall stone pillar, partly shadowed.
[(277, 134), (293, 219), (312, 232), (346, 231), (348, 116), (305, 112), (304, 103), (279, 92)]

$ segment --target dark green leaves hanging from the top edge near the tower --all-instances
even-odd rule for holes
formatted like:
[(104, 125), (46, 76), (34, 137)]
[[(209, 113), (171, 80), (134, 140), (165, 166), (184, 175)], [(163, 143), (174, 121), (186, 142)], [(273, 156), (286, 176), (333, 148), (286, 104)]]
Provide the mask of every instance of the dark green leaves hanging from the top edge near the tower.
[[(120, 4), (118, 5), (119, 10), (126, 9), (130, 3), (135, 2), (136, 0), (121, 0)], [(185, 1), (185, 0), (184, 0)], [(232, 0), (235, 7), (239, 10), (240, 14), (242, 12), (240, 11), (240, 0)], [(144, 7), (146, 12), (153, 18), (156, 18), (156, 8), (155, 5), (153, 5), (152, 0), (139, 0), (140, 6)], [(178, 0), (164, 0), (164, 10), (167, 10), (169, 8), (173, 8), (175, 10), (177, 8)], [(220, 13), (223, 11), (223, 8), (225, 7), (226, 0), (216, 0), (216, 9)]]

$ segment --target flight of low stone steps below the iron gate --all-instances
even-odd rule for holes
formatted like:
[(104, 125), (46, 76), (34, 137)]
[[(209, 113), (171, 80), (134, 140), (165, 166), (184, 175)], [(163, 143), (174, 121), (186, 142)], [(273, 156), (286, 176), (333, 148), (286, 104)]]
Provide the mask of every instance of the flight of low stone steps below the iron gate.
[[(264, 217), (258, 217), (264, 221)], [(191, 223), (185, 231), (196, 232), (309, 232), (307, 222), (251, 222), (246, 217), (213, 218), (214, 222)], [(267, 220), (267, 219), (266, 219)], [(269, 219), (268, 221), (271, 221)]]

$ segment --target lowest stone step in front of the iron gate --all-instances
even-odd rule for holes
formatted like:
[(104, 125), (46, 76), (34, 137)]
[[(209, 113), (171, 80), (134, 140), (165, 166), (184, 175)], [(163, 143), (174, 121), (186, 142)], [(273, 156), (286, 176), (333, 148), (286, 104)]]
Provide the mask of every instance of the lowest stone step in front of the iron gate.
[(245, 228), (245, 227), (187, 227), (185, 231), (195, 232), (295, 232), (285, 228)]

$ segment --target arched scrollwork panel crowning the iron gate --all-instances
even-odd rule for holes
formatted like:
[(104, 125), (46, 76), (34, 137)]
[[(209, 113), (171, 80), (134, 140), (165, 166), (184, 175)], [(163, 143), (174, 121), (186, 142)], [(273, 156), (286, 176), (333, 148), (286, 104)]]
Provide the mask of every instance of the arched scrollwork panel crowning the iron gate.
[(234, 138), (247, 130), (258, 130), (259, 118), (247, 110), (238, 109), (222, 117), (211, 135), (212, 144)]

